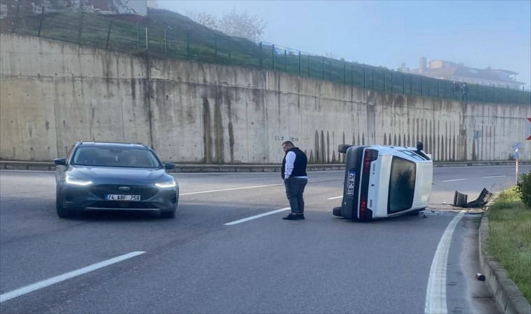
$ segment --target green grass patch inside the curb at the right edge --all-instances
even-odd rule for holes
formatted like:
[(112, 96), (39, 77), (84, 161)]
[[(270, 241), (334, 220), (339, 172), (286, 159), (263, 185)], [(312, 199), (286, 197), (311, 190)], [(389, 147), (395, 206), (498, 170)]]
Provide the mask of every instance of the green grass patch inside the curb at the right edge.
[(488, 222), (489, 253), (531, 303), (531, 210), (524, 207), (516, 188), (500, 193), (488, 210)]

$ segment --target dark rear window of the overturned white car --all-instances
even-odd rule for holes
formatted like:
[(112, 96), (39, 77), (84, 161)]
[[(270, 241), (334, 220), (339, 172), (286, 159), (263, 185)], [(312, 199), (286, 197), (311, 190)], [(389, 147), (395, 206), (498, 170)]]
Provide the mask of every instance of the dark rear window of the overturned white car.
[(400, 157), (393, 157), (387, 210), (389, 213), (412, 207), (415, 193), (415, 163)]

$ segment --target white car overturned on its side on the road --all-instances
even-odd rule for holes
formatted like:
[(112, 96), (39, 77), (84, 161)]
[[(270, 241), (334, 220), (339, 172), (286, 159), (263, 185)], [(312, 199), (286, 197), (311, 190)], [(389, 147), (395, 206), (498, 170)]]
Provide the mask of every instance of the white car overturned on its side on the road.
[(428, 207), (433, 163), (417, 147), (382, 145), (338, 147), (345, 156), (341, 207), (334, 216), (370, 220), (419, 212)]

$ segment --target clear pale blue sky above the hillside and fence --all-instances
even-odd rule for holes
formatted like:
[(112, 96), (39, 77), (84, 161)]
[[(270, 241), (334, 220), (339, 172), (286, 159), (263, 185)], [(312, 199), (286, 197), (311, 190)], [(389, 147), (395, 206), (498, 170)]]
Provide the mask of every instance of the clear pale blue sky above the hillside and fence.
[(263, 40), (294, 50), (367, 63), (419, 68), (419, 58), (519, 73), (531, 83), (531, 1), (180, 1), (160, 8), (263, 17)]

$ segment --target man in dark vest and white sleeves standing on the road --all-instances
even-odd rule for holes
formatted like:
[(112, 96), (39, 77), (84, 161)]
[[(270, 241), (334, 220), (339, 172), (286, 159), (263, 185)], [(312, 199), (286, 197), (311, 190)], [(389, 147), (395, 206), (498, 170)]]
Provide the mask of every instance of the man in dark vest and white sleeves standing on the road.
[(282, 160), (282, 179), (284, 179), (286, 196), (289, 200), (289, 207), (291, 207), (291, 213), (286, 217), (282, 217), (282, 219), (304, 219), (303, 193), (308, 183), (306, 174), (308, 159), (303, 151), (293, 145), (293, 142), (286, 141), (282, 143), (282, 149), (286, 153)]

